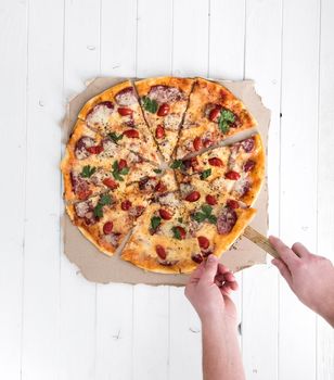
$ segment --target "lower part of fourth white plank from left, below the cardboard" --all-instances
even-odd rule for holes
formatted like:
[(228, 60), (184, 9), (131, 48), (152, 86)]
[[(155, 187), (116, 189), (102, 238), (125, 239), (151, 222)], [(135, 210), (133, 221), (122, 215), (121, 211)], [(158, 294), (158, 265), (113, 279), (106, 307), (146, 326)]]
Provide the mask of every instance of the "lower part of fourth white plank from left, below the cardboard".
[(132, 286), (98, 284), (95, 379), (131, 379)]

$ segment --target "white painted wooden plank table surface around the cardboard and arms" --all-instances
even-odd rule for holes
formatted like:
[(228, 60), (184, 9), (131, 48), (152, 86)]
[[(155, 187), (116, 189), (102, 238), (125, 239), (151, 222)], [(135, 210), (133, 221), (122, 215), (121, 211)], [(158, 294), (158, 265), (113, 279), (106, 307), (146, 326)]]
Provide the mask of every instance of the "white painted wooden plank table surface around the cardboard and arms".
[[(0, 0), (0, 378), (196, 380), (182, 289), (89, 283), (63, 254), (61, 121), (98, 75), (253, 78), (270, 232), (334, 258), (332, 0)], [(247, 379), (333, 380), (334, 333), (270, 264), (240, 274)]]

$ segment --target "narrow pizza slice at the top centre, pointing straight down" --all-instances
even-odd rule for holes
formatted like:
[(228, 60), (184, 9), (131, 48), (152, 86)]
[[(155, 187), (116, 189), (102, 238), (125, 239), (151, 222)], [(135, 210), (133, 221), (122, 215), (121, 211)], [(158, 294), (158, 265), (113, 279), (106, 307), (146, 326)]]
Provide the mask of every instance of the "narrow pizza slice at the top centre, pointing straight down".
[(159, 77), (134, 84), (144, 117), (167, 162), (178, 141), (193, 83), (194, 79)]

